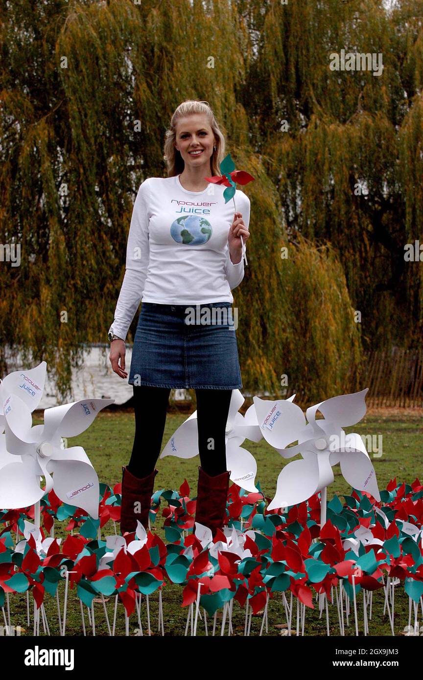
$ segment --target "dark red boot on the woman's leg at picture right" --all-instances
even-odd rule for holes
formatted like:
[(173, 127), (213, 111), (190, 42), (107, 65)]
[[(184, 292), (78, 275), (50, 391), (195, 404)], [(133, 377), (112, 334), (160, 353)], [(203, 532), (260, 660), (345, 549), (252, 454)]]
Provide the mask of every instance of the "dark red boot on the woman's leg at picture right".
[[(223, 529), (226, 520), (226, 499), (228, 498), (229, 477), (231, 471), (211, 477), (199, 465), (199, 481), (197, 485), (197, 505), (195, 522), (208, 526), (212, 536), (218, 529)], [(195, 523), (193, 532), (195, 533)]]

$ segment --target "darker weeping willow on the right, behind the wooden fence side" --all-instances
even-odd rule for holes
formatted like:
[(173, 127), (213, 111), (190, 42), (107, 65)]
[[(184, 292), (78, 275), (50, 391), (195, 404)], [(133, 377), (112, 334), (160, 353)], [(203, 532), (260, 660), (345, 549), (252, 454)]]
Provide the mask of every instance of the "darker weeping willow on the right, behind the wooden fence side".
[[(423, 337), (423, 264), (405, 260), (423, 234), (423, 3), (385, 4), (254, 3), (244, 89), (288, 235), (337, 250), (367, 349)], [(341, 50), (371, 69), (332, 70)]]

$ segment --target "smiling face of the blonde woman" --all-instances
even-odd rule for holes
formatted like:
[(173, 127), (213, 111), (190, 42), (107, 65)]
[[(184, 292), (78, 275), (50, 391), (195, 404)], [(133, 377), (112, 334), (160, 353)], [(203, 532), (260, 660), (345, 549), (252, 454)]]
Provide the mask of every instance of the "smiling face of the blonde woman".
[(208, 171), (215, 143), (205, 114), (191, 114), (177, 121), (175, 148), (180, 151), (185, 167), (205, 165)]

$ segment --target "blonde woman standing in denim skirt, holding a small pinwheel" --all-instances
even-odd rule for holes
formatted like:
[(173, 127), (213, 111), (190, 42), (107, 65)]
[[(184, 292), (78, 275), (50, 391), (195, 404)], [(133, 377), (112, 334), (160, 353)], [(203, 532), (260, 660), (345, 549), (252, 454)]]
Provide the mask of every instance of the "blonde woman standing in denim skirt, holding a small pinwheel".
[(234, 214), (231, 202), (225, 204), (224, 186), (210, 189), (205, 180), (220, 175), (224, 146), (208, 103), (184, 101), (166, 133), (168, 177), (144, 180), (135, 199), (126, 272), (109, 329), (109, 359), (124, 379), (124, 340), (142, 299), (129, 371), (135, 438), (131, 460), (122, 467), (122, 534), (135, 531), (137, 520), (148, 528), (173, 388), (192, 388), (197, 396), (201, 466), (195, 522), (214, 537), (226, 520), (231, 471), (225, 428), (232, 390), (242, 387), (231, 289), (244, 275), (241, 235), (246, 243), (250, 200), (237, 190), (241, 212)]

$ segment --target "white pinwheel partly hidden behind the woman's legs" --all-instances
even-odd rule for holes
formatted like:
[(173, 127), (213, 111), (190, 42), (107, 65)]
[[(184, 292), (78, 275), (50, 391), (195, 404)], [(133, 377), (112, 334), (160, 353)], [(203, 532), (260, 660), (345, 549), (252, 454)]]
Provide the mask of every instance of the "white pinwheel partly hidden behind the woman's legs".
[[(245, 439), (260, 441), (263, 433), (258, 426), (254, 404), (247, 409), (246, 415), (239, 413), (244, 401), (239, 390), (232, 391), (225, 430), (226, 465), (228, 470), (231, 470), (230, 479), (235, 484), (248, 492), (258, 492), (254, 483), (257, 473), (256, 459), (250, 452), (243, 449), (241, 444)], [(165, 456), (194, 458), (198, 455), (197, 411), (194, 411), (171, 436), (160, 458), (165, 458)]]

